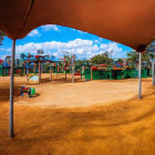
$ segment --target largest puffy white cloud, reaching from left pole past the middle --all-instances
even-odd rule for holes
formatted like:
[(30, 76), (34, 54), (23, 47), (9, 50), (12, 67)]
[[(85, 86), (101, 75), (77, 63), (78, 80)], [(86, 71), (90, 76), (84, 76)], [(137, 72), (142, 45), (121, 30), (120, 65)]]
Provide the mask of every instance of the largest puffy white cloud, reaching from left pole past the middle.
[(17, 45), (17, 56), (20, 55), (20, 53), (31, 53), (37, 54), (37, 51), (39, 49), (44, 50), (44, 54), (54, 54), (56, 56), (62, 56), (64, 54), (64, 51), (68, 51), (70, 54), (76, 54), (78, 56), (84, 58), (87, 52), (95, 53), (100, 50), (100, 48), (94, 44), (92, 40), (82, 40), (76, 39), (69, 42), (43, 42), (43, 43), (27, 43), (23, 45)]

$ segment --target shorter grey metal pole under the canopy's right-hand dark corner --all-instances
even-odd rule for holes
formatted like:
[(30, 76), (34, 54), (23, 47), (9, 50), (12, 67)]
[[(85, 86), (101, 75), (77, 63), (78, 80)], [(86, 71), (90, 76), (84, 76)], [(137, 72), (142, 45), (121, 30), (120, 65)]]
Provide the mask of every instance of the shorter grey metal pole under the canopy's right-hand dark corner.
[(138, 55), (138, 99), (142, 99), (142, 53)]

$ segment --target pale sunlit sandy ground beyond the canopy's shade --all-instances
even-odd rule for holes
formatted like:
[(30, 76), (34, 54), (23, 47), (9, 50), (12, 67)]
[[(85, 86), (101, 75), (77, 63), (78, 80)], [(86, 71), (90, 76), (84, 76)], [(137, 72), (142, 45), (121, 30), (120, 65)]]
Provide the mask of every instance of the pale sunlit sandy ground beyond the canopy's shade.
[[(71, 75), (68, 81), (64, 75), (54, 75), (53, 82), (49, 82), (49, 75), (42, 75), (42, 83), (27, 83), (25, 78), (16, 78), (16, 104), (39, 105), (52, 107), (79, 107), (91, 106), (96, 104), (110, 104), (121, 101), (127, 101), (137, 97), (138, 81), (137, 80), (117, 80), (117, 81), (87, 81), (83, 82), (80, 76), (75, 83), (71, 83)], [(9, 78), (0, 78), (1, 94), (9, 90)], [(143, 94), (148, 94), (148, 83), (151, 79), (143, 80)], [(21, 85), (35, 87), (37, 96), (29, 99), (19, 96), (18, 87)], [(152, 90), (151, 90), (152, 91)], [(7, 93), (8, 95), (8, 93)]]

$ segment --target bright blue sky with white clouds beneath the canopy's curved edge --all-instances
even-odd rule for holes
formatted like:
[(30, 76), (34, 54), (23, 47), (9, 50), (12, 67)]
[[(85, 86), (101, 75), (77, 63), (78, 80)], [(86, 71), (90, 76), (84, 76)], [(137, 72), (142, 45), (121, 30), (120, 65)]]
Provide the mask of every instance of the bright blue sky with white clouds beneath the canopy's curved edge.
[[(11, 53), (12, 41), (4, 38), (0, 45), (0, 59)], [(43, 50), (44, 54), (62, 58), (65, 52), (75, 54), (78, 59), (90, 59), (104, 52), (112, 52), (112, 58), (125, 58), (126, 52), (132, 50), (123, 44), (102, 39), (80, 30), (48, 24), (31, 31), (24, 39), (17, 41), (17, 54), (37, 54), (37, 50)]]

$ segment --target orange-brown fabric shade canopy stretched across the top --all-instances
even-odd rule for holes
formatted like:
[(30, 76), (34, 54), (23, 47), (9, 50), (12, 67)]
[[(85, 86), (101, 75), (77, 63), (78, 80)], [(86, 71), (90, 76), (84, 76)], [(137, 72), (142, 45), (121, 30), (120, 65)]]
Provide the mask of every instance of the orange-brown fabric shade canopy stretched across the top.
[(22, 39), (43, 24), (79, 29), (143, 51), (155, 39), (155, 0), (0, 0), (0, 29)]

